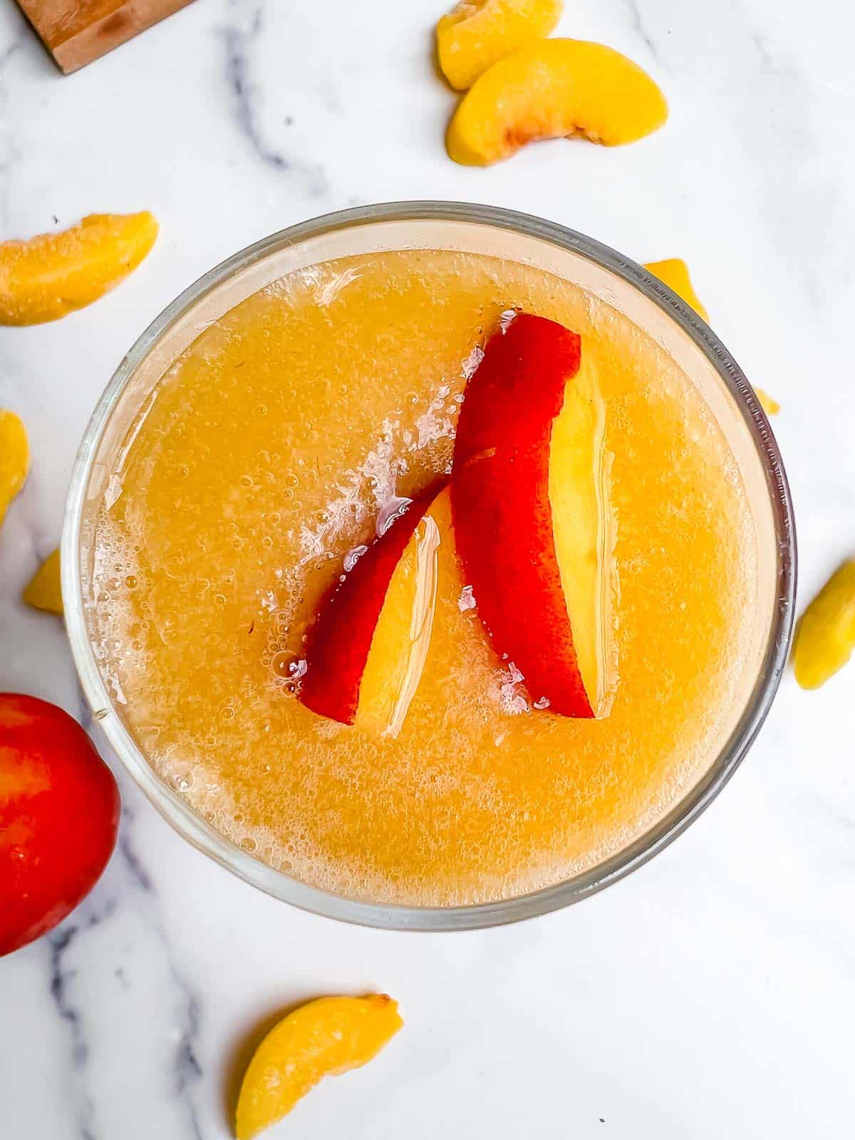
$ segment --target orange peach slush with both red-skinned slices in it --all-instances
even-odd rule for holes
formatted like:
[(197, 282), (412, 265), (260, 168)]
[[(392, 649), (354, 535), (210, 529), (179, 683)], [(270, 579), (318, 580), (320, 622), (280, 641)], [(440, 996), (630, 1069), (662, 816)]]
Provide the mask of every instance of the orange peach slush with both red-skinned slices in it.
[(156, 773), (271, 866), (458, 905), (592, 868), (709, 763), (757, 539), (699, 390), (487, 254), (302, 269), (174, 361), (95, 536)]

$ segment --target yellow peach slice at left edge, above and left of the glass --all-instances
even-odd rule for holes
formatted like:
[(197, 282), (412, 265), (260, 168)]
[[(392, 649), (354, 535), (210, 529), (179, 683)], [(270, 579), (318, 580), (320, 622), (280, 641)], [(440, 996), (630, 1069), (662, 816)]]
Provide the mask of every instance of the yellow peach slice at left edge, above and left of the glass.
[(82, 309), (137, 268), (154, 245), (148, 211), (90, 214), (59, 234), (0, 243), (0, 324), (39, 325)]

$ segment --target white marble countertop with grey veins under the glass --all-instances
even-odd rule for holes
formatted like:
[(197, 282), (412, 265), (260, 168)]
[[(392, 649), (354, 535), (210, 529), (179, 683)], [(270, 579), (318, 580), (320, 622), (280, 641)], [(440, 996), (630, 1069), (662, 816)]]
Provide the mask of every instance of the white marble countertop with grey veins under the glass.
[[(392, 198), (543, 214), (637, 260), (687, 260), (775, 422), (800, 602), (855, 549), (855, 15), (839, 0), (568, 0), (561, 32), (661, 82), (668, 127), (454, 165), (432, 73), (445, 0), (201, 0), (63, 79), (0, 10), (0, 235), (150, 209), (115, 293), (0, 331), (0, 406), (34, 466), (0, 535), (0, 689), (83, 716), (58, 619), (19, 602), (56, 546), (96, 398), (142, 327), (254, 239)], [(218, 1140), (242, 1042), (283, 1005), (388, 990), (405, 1032), (271, 1137), (777, 1140), (853, 1134), (855, 666), (784, 678), (750, 757), (667, 852), (562, 913), (465, 935), (348, 928), (231, 878), (120, 772), (90, 898), (0, 962), (0, 1134)]]

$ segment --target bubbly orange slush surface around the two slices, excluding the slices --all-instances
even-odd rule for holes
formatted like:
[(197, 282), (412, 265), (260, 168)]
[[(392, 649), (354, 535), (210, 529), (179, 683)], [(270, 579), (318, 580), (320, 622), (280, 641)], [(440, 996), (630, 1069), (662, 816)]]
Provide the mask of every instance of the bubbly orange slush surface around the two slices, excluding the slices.
[[(293, 695), (307, 622), (396, 505), (449, 470), (466, 377), (514, 309), (596, 357), (620, 585), (611, 715), (530, 708), (446, 537), (400, 732), (325, 722)], [(640, 329), (531, 267), (409, 251), (295, 272), (174, 363), (112, 474), (96, 649), (130, 731), (226, 837), (337, 894), (473, 903), (592, 866), (697, 777), (746, 667), (756, 539), (720, 429)]]

